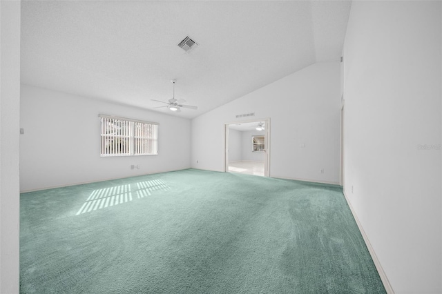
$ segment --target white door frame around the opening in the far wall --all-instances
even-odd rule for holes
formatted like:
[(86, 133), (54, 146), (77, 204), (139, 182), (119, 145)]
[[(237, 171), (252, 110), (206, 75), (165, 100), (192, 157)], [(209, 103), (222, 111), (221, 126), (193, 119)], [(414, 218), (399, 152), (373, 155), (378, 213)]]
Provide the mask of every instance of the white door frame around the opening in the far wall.
[(242, 121), (231, 121), (224, 123), (224, 173), (229, 172), (229, 126), (231, 124), (247, 124), (264, 121), (265, 124), (265, 160), (264, 160), (264, 176), (270, 177), (270, 117), (265, 119), (247, 119)]

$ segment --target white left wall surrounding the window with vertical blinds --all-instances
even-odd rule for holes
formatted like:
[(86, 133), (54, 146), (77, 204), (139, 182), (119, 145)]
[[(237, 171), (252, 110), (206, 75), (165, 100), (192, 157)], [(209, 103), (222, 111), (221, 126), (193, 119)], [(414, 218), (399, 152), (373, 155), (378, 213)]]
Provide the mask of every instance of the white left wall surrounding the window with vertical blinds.
[[(100, 157), (98, 114), (160, 123), (159, 154)], [(22, 191), (190, 168), (189, 119), (26, 85), (20, 118)]]

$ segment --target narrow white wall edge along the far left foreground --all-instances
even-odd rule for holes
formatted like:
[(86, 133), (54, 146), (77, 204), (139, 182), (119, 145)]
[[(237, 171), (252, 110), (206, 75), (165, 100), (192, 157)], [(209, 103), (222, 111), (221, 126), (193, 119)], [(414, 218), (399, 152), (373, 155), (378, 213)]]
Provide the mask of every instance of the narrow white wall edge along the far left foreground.
[(20, 1), (0, 1), (0, 293), (19, 293)]

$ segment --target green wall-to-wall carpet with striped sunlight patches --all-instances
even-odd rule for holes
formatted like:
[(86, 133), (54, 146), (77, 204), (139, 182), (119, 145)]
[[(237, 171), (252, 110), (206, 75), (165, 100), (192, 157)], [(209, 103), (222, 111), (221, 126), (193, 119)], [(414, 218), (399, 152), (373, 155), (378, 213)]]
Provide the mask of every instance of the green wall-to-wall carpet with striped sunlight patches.
[(21, 293), (385, 293), (342, 188), (181, 170), (21, 194)]

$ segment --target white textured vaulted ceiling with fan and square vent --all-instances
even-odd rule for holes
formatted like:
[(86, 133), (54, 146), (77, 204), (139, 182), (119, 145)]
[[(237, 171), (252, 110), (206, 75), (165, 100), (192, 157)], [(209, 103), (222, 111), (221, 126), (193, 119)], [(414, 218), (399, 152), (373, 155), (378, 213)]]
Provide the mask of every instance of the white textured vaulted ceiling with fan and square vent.
[[(349, 1), (22, 1), (21, 83), (192, 118), (338, 61)], [(199, 45), (177, 46), (189, 35)]]

